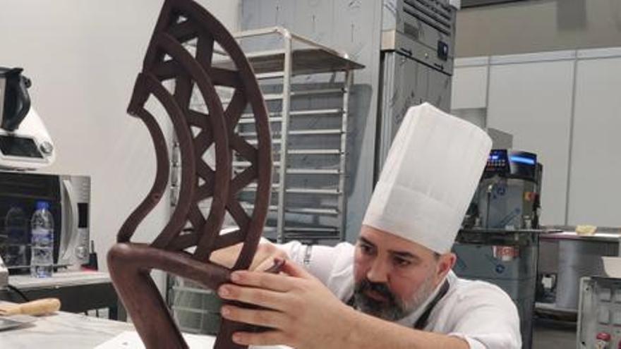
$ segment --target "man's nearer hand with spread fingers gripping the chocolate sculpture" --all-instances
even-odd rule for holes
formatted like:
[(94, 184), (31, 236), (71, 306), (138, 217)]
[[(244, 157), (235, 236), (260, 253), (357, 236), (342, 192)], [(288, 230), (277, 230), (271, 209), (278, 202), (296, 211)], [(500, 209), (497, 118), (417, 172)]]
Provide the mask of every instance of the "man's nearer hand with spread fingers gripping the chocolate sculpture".
[[(270, 264), (274, 261), (271, 259)], [(353, 324), (354, 310), (344, 305), (318, 279), (287, 261), (282, 274), (235, 271), (219, 288), (227, 300), (266, 309), (222, 307), (222, 316), (236, 322), (270, 327), (262, 333), (238, 332), (233, 341), (242, 345), (284, 344), (294, 348), (343, 348)]]

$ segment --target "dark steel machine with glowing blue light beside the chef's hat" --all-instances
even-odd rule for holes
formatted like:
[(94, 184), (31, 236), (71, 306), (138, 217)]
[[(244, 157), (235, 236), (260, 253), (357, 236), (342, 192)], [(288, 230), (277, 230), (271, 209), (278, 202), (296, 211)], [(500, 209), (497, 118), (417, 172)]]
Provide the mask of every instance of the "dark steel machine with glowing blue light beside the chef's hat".
[(522, 348), (531, 348), (539, 256), (537, 155), (492, 149), (453, 247), (460, 277), (488, 281), (517, 306)]

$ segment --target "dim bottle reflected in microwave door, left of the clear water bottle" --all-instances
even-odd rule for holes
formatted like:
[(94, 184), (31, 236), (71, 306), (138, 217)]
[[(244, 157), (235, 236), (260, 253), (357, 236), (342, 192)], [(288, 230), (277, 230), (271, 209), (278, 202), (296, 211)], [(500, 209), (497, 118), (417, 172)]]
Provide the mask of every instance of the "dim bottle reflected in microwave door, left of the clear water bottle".
[(28, 219), (23, 209), (12, 206), (4, 216), (6, 259), (8, 267), (28, 267)]

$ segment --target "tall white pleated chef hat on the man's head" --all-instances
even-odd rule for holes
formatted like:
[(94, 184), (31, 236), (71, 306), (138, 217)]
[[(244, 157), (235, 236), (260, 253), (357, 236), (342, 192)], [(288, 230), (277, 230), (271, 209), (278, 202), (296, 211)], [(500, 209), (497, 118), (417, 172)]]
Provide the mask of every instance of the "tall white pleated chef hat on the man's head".
[(491, 147), (490, 137), (476, 125), (431, 104), (411, 107), (363, 224), (438, 253), (450, 251)]

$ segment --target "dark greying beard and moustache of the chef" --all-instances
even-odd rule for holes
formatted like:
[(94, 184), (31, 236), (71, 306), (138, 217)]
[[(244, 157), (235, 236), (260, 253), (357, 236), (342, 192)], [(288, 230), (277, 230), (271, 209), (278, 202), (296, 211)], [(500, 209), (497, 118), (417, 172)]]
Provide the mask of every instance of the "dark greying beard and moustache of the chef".
[[(433, 277), (429, 276), (409, 300), (404, 300), (392, 293), (386, 283), (373, 283), (368, 278), (363, 278), (362, 281), (356, 283), (354, 300), (358, 310), (366, 314), (387, 321), (397, 321), (418, 309), (429, 298), (434, 289)], [(385, 300), (369, 298), (365, 294), (369, 290), (378, 293)]]

